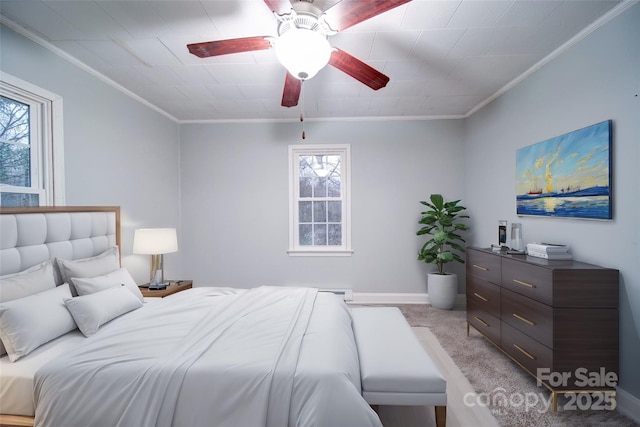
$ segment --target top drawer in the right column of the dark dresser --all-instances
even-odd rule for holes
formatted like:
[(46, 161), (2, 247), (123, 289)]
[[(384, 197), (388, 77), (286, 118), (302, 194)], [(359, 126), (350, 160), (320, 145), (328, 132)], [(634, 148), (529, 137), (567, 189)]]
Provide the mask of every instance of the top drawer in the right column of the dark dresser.
[(553, 305), (552, 270), (526, 262), (502, 260), (502, 287)]

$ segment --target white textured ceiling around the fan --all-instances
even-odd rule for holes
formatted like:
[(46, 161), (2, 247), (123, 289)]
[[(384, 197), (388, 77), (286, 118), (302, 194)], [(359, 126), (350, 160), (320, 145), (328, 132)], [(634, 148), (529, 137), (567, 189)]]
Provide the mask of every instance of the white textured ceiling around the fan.
[(275, 36), (277, 19), (261, 0), (0, 0), (0, 14), (10, 27), (189, 122), (295, 119), (301, 110), (309, 119), (463, 117), (621, 6), (615, 0), (413, 0), (329, 39), (388, 75), (386, 87), (373, 91), (327, 66), (304, 82), (292, 108), (280, 106), (285, 69), (273, 49), (200, 59), (186, 48)]

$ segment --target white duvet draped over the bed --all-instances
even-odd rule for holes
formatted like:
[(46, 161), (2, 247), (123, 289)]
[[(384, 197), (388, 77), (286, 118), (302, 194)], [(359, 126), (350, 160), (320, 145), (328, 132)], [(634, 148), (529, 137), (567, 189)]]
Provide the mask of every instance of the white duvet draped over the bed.
[(121, 316), (35, 377), (36, 427), (381, 426), (348, 309), (306, 288), (194, 288)]

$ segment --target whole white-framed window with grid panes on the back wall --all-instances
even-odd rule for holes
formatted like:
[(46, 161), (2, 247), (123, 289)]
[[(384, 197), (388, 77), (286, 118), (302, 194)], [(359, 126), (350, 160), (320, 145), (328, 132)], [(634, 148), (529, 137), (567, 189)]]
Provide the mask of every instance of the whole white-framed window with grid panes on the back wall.
[(349, 256), (349, 145), (289, 146), (289, 255)]

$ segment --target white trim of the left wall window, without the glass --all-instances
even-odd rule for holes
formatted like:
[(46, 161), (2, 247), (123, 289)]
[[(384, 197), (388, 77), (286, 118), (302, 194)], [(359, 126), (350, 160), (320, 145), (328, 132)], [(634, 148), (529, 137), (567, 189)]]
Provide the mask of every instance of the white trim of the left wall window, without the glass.
[(11, 74), (0, 74), (0, 88), (10, 97), (11, 93), (31, 98), (40, 104), (41, 126), (39, 183), (44, 190), (40, 206), (63, 206), (65, 204), (64, 179), (64, 134), (62, 97), (49, 92)]

